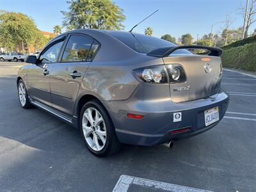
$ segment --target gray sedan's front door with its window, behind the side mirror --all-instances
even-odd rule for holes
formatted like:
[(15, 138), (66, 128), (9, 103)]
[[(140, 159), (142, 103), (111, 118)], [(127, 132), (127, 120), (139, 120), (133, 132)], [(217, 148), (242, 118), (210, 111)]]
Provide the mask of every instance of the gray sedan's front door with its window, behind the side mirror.
[(27, 81), (31, 99), (52, 106), (50, 74), (52, 65), (58, 61), (65, 36), (58, 38), (45, 47), (40, 54), (38, 63), (29, 65)]

